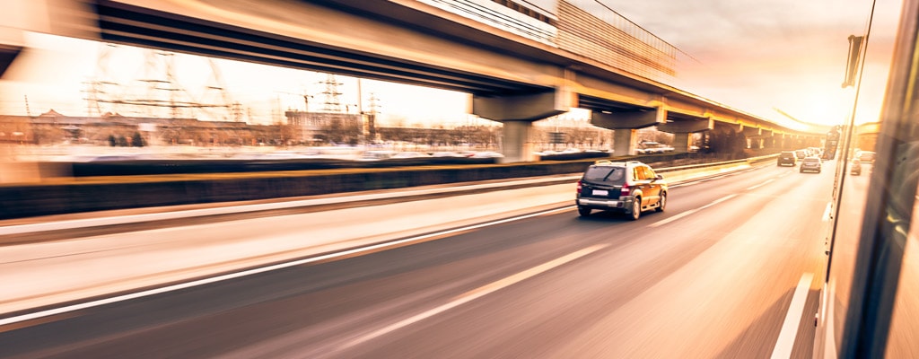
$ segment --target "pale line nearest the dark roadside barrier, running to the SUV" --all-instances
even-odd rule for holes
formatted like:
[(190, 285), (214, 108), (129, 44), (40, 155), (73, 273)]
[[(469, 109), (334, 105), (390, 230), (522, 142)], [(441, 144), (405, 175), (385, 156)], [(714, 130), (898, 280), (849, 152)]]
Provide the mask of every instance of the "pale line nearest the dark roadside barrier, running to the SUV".
[(254, 211), (259, 211), (259, 210), (269, 210), (269, 209), (284, 209), (284, 208), (298, 208), (298, 207), (307, 207), (307, 206), (319, 206), (319, 205), (328, 205), (328, 204), (336, 204), (336, 203), (344, 203), (344, 202), (366, 201), (366, 200), (373, 200), (373, 199), (380, 199), (380, 198), (398, 198), (398, 197), (404, 197), (404, 196), (420, 196), (420, 195), (426, 195), (426, 194), (432, 194), (432, 193), (459, 192), (459, 191), (467, 191), (467, 190), (482, 189), (482, 188), (501, 187), (501, 186), (507, 186), (507, 185), (528, 185), (528, 184), (535, 184), (535, 183), (548, 182), (548, 181), (574, 180), (577, 178), (580, 178), (580, 176), (552, 177), (549, 179), (528, 179), (528, 180), (511, 181), (511, 182), (505, 182), (505, 183), (496, 183), (496, 184), (463, 185), (459, 187), (412, 190), (412, 191), (402, 191), (402, 192), (395, 192), (395, 193), (378, 193), (378, 194), (369, 194), (369, 195), (339, 196), (339, 197), (334, 197), (334, 198), (300, 199), (300, 200), (280, 202), (280, 203), (260, 203), (260, 204), (254, 204), (254, 205), (233, 206), (229, 208), (185, 209), (185, 210), (177, 210), (173, 212), (146, 213), (146, 214), (138, 214), (138, 215), (118, 216), (118, 217), (103, 217), (103, 218), (95, 218), (95, 219), (69, 219), (69, 220), (61, 220), (61, 221), (55, 221), (55, 222), (50, 222), (50, 223), (18, 224), (18, 225), (13, 225), (13, 226), (0, 227), (0, 235), (22, 234), (22, 233), (30, 233), (30, 232), (36, 232), (36, 231), (45, 231), (45, 230), (72, 230), (74, 228), (108, 226), (108, 225), (116, 225), (116, 224), (146, 222), (146, 221), (153, 221), (153, 220), (186, 219), (186, 218), (192, 218), (192, 217), (245, 213), (245, 212), (254, 212)]

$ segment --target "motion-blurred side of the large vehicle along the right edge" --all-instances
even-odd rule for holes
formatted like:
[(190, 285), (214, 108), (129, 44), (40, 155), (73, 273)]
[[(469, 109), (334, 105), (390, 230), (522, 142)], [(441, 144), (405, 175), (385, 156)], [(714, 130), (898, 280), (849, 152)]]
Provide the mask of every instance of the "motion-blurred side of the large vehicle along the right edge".
[[(846, 176), (837, 168), (836, 218), (824, 283), (826, 357), (919, 357), (919, 105), (913, 59), (919, 4), (908, 2), (900, 45), (891, 67), (878, 129), (857, 133), (842, 147), (848, 166), (874, 163), (871, 175)], [(907, 46), (908, 45), (908, 46)], [(868, 151), (854, 151), (863, 148)]]

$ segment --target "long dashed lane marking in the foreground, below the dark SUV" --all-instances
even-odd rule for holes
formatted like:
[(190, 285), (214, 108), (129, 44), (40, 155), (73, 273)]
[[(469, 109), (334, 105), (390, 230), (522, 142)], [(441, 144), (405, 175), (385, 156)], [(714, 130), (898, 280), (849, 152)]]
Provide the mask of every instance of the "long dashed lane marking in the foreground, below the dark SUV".
[(562, 257), (560, 257), (560, 258), (556, 258), (556, 259), (554, 259), (554, 260), (552, 260), (552, 261), (550, 261), (550, 262), (547, 262), (547, 263), (544, 263), (544, 264), (539, 264), (539, 265), (537, 265), (537, 266), (535, 266), (535, 267), (529, 268), (528, 270), (525, 270), (525, 271), (523, 271), (523, 272), (517, 273), (516, 275), (511, 275), (511, 276), (505, 277), (505, 278), (503, 278), (503, 279), (500, 279), (500, 280), (498, 280), (498, 281), (495, 281), (495, 282), (492, 282), (492, 283), (490, 283), (490, 284), (487, 284), (487, 285), (485, 285), (485, 286), (480, 286), (480, 287), (478, 287), (478, 288), (472, 289), (471, 291), (466, 292), (466, 293), (460, 295), (459, 297), (454, 298), (454, 299), (453, 299), (452, 301), (450, 301), (449, 303), (444, 304), (444, 305), (442, 305), (442, 306), (440, 306), (440, 307), (437, 307), (437, 308), (435, 308), (435, 309), (426, 310), (426, 311), (423, 312), (423, 313), (416, 314), (416, 315), (414, 315), (414, 316), (412, 316), (412, 317), (409, 317), (409, 318), (406, 318), (406, 319), (404, 319), (404, 320), (399, 320), (399, 321), (397, 321), (397, 322), (395, 322), (395, 323), (392, 323), (392, 324), (387, 325), (387, 326), (385, 326), (385, 327), (383, 327), (383, 328), (380, 328), (379, 330), (371, 331), (371, 332), (369, 332), (369, 333), (367, 333), (367, 334), (364, 334), (364, 335), (362, 335), (362, 336), (360, 336), (360, 337), (358, 337), (358, 338), (356, 338), (356, 339), (354, 339), (354, 340), (352, 340), (352, 341), (350, 341), (350, 342), (346, 342), (344, 345), (342, 345), (342, 347), (341, 347), (340, 349), (341, 349), (341, 350), (344, 350), (344, 349), (347, 349), (347, 348), (356, 346), (356, 345), (358, 345), (358, 344), (360, 344), (360, 343), (362, 343), (362, 342), (368, 342), (369, 340), (372, 340), (372, 339), (374, 339), (374, 338), (378, 338), (378, 337), (380, 337), (380, 336), (382, 336), (382, 335), (384, 335), (384, 334), (387, 334), (387, 333), (389, 333), (389, 332), (391, 332), (391, 331), (397, 331), (397, 330), (402, 329), (402, 328), (404, 328), (404, 327), (406, 327), (406, 326), (409, 326), (409, 325), (411, 325), (411, 324), (414, 324), (415, 322), (418, 322), (418, 321), (421, 321), (421, 320), (425, 320), (425, 319), (431, 318), (431, 317), (436, 316), (437, 314), (443, 313), (444, 311), (447, 311), (447, 310), (449, 310), (449, 309), (454, 309), (454, 308), (456, 308), (456, 307), (459, 307), (459, 306), (462, 305), (462, 304), (471, 302), (472, 300), (475, 300), (475, 299), (477, 299), (477, 298), (484, 297), (484, 296), (487, 296), (487, 295), (489, 295), (489, 294), (492, 294), (492, 293), (494, 293), (494, 292), (497, 291), (497, 290), (503, 289), (503, 288), (508, 287), (508, 286), (515, 285), (516, 283), (522, 282), (522, 281), (524, 281), (524, 280), (526, 280), (526, 279), (528, 279), (528, 278), (531, 278), (531, 277), (533, 277), (533, 276), (535, 276), (535, 275), (539, 275), (539, 274), (545, 273), (545, 272), (549, 271), (550, 269), (553, 269), (553, 268), (556, 268), (556, 267), (558, 267), (558, 266), (561, 266), (562, 264), (570, 263), (570, 262), (572, 262), (572, 261), (574, 261), (574, 260), (576, 260), (576, 259), (578, 259), (578, 258), (583, 257), (584, 255), (587, 255), (587, 254), (590, 254), (590, 253), (599, 251), (599, 250), (601, 250), (601, 249), (603, 249), (603, 248), (606, 248), (608, 245), (609, 245), (609, 244), (596, 244), (596, 245), (594, 245), (594, 246), (591, 246), (591, 247), (588, 247), (588, 248), (584, 248), (583, 250), (580, 250), (580, 251), (578, 251), (578, 252), (573, 252), (573, 253), (570, 253), (570, 254), (568, 254), (568, 255), (562, 256)]

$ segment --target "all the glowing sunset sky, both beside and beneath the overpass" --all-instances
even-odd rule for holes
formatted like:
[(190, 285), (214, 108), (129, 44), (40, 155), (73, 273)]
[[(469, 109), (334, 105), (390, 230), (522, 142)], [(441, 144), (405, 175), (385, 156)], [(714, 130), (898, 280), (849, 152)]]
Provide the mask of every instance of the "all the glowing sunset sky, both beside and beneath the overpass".
[[(854, 90), (840, 86), (847, 37), (865, 34), (870, 1), (603, 2), (687, 54), (680, 55), (677, 76), (668, 81), (677, 88), (779, 123), (788, 119), (775, 108), (813, 123), (837, 124), (848, 117)], [(857, 122), (879, 115), (900, 7), (900, 1), (878, 0)], [(31, 49), (0, 83), (0, 112), (25, 115), (28, 95), (33, 115), (54, 108), (85, 116), (85, 81), (100, 73), (122, 83), (145, 76), (142, 50), (119, 50), (102, 71), (97, 63), (103, 46), (98, 43), (29, 35), (28, 45)], [(205, 60), (187, 59), (177, 66), (176, 77), (194, 93), (193, 88), (212, 82), (210, 67)], [(314, 104), (323, 101), (324, 74), (219, 63), (226, 87), (249, 109), (253, 122), (271, 123), (278, 109), (302, 108), (302, 97), (296, 94), (304, 91), (314, 96)], [(343, 103), (353, 106), (357, 81), (344, 76), (338, 80)], [(382, 118), (390, 123), (455, 125), (469, 120), (464, 94), (366, 80), (362, 88), (365, 101), (370, 93), (380, 99)]]

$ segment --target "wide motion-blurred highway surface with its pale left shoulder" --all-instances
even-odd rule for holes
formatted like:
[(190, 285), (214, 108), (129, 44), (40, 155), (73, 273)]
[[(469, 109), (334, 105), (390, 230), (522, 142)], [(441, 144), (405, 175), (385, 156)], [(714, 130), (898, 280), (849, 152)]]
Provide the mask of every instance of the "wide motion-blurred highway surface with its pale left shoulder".
[[(600, 212), (579, 218), (573, 185), (527, 189), (539, 196), (531, 192), (562, 188), (553, 196), (570, 200), (479, 225), (458, 219), (398, 230), (425, 216), (500, 210), (521, 192), (477, 195), (479, 207), (444, 197), (323, 212), (323, 235), (360, 228), (360, 214), (388, 218), (370, 228), (407, 241), (366, 250), (374, 241), (351, 241), (348, 252), (328, 249), (322, 260), (196, 286), (173, 280), (175, 290), (7, 323), (0, 357), (808, 358), (834, 165), (824, 163), (822, 174), (769, 165), (675, 185), (665, 212), (638, 221)], [(259, 236), (287, 236), (297, 258), (306, 216), (323, 213), (205, 217), (9, 245), (0, 247), (0, 268), (19, 269), (0, 276), (35, 290), (40, 283), (17, 279), (28, 278), (27, 268), (55, 266), (79, 278), (157, 265), (78, 260), (90, 252), (161, 252), (194, 263), (258, 248), (234, 247), (233, 239)], [(351, 237), (372, 240), (372, 229)], [(90, 238), (107, 244), (82, 247)], [(188, 252), (191, 242), (222, 244), (208, 254)]]

